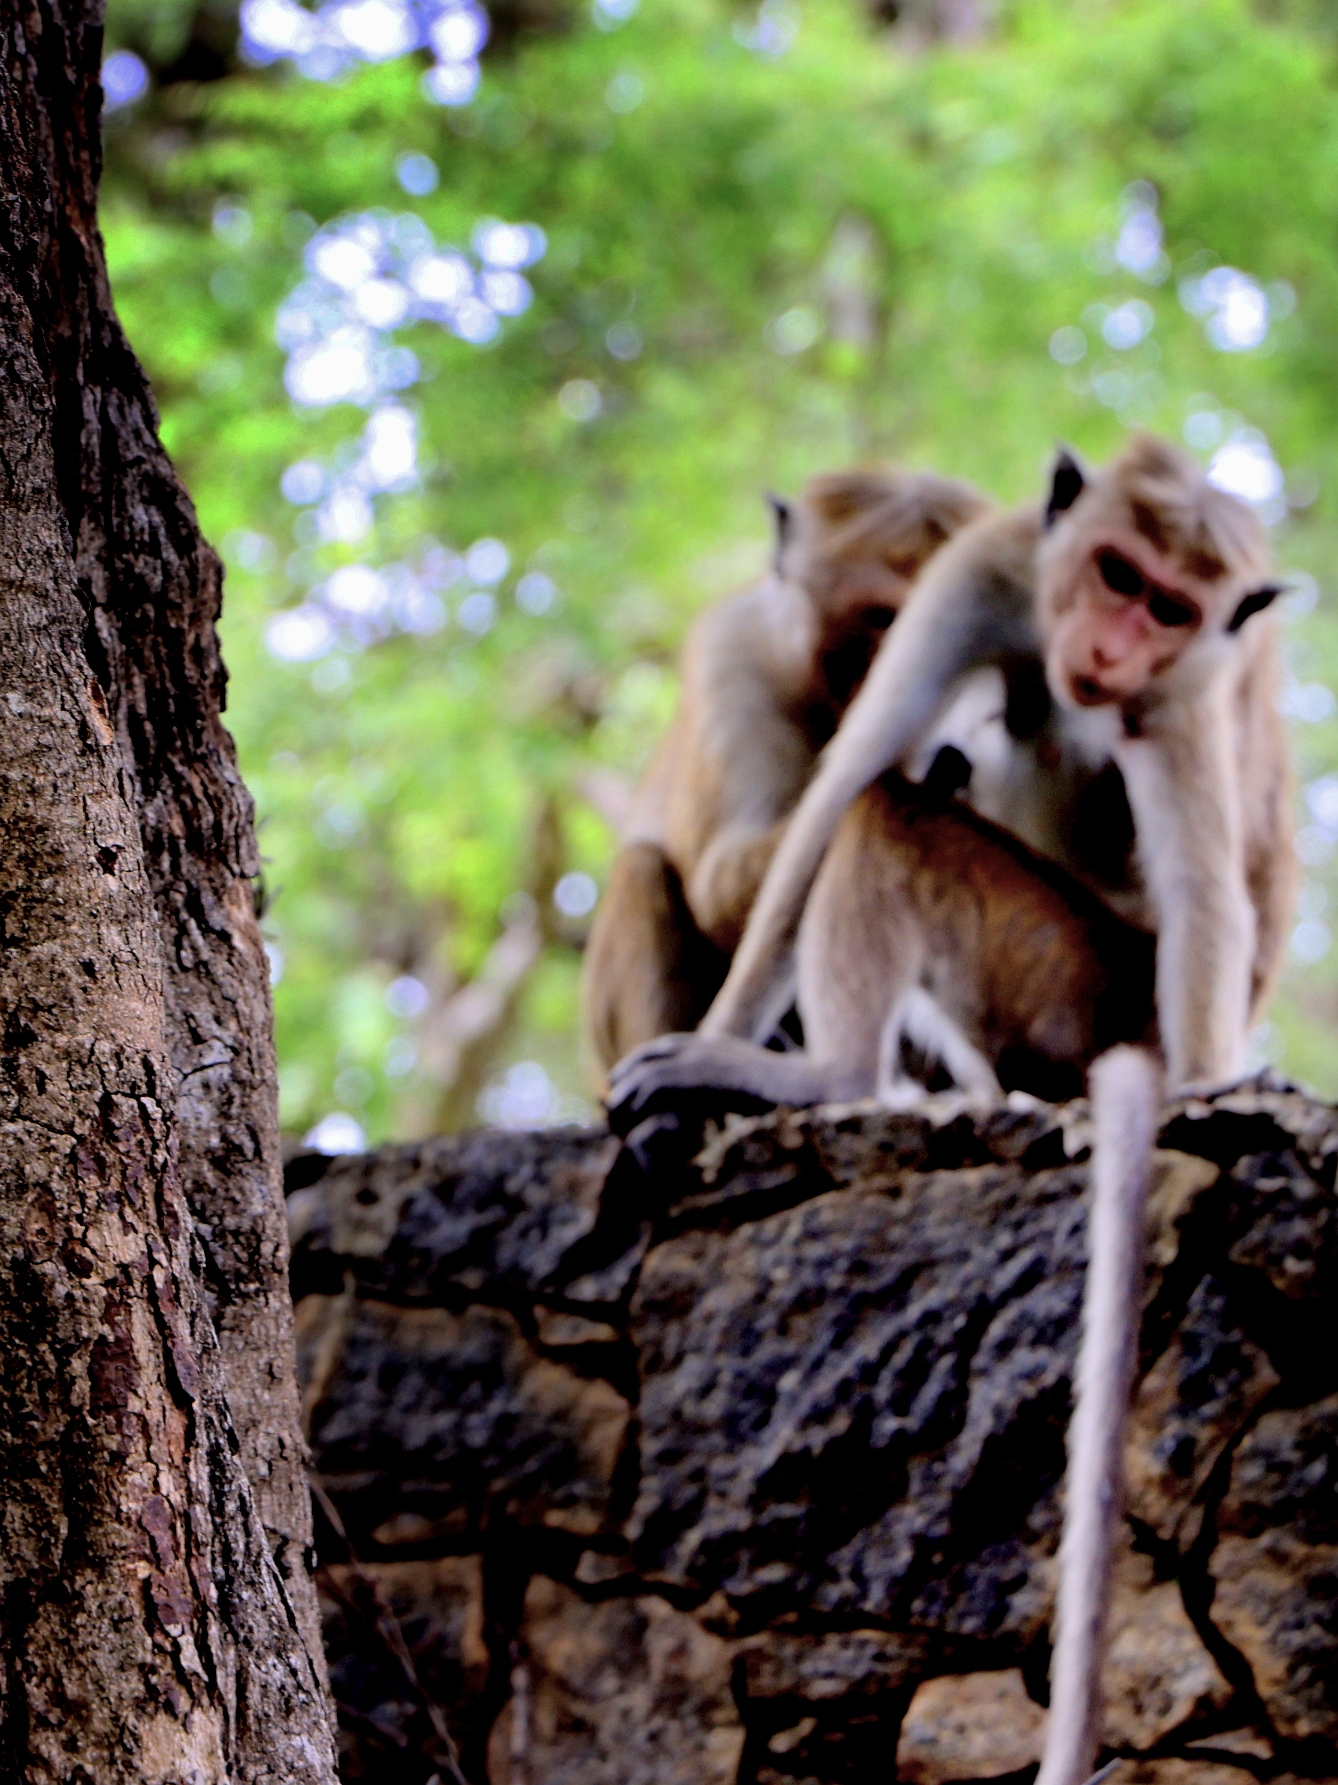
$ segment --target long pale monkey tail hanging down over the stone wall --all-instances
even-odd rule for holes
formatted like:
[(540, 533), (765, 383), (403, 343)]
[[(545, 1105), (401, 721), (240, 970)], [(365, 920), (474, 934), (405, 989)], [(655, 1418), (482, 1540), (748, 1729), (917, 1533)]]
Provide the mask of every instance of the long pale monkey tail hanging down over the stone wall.
[(1144, 1210), (1163, 1073), (1145, 1048), (1094, 1060), (1083, 1337), (1060, 1540), (1051, 1714), (1037, 1785), (1085, 1785), (1101, 1746), (1101, 1671), (1124, 1499), (1124, 1430), (1144, 1308)]

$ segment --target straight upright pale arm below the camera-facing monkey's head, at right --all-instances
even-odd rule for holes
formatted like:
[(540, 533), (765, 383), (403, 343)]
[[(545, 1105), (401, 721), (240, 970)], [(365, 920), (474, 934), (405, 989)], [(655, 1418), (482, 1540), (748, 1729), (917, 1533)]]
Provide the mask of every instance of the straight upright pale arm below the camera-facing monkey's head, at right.
[(1117, 746), (1158, 912), (1156, 1005), (1172, 1083), (1243, 1064), (1254, 962), (1229, 691), (1210, 685)]

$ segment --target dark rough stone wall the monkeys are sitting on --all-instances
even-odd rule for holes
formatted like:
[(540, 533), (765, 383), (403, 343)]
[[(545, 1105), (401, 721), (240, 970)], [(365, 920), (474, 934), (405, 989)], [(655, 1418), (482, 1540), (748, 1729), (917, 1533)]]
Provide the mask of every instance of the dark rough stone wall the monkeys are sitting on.
[[(1088, 1132), (1015, 1105), (471, 1133), (294, 1191), (348, 1780), (444, 1780), (430, 1705), (471, 1785), (1031, 1776)], [(1338, 1116), (1252, 1082), (1161, 1148), (1115, 1785), (1334, 1780)]]

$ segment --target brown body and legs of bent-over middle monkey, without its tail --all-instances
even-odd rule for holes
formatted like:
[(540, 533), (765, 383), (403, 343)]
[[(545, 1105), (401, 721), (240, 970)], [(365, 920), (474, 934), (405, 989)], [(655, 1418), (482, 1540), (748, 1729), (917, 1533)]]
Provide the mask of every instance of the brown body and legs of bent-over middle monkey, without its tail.
[[(890, 769), (842, 816), (796, 950), (805, 1048), (644, 1044), (612, 1073), (617, 1132), (689, 1083), (740, 1091), (749, 1107), (908, 1105), (940, 1073), (978, 1098), (1063, 1101), (1099, 1053), (1156, 1044), (1156, 939), (951, 798), (965, 768), (949, 746), (924, 784)], [(929, 1067), (921, 1083), (906, 1053)]]

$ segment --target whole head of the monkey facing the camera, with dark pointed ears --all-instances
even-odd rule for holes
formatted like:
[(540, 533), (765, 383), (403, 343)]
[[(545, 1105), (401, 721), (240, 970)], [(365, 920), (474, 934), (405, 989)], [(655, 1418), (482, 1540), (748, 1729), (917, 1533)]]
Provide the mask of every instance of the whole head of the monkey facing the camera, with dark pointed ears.
[(1129, 716), (1211, 669), (1277, 594), (1254, 512), (1147, 434), (1097, 473), (1061, 452), (1044, 521), (1038, 618), (1063, 707)]

